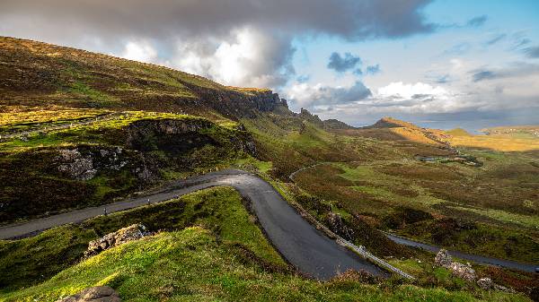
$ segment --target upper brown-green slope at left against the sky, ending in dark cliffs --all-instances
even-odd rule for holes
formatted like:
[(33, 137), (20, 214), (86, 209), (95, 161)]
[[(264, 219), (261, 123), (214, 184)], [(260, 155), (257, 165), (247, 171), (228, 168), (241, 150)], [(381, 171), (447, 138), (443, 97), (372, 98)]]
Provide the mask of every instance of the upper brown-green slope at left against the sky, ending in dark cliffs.
[(226, 87), (163, 66), (7, 37), (0, 37), (0, 105), (174, 111), (214, 119), (287, 110), (270, 90)]

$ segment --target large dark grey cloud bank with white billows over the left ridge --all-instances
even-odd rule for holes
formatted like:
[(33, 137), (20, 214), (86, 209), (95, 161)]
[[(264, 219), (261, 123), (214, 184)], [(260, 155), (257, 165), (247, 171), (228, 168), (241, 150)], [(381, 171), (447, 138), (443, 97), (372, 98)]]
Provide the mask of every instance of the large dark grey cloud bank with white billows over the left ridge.
[(295, 76), (294, 39), (432, 32), (422, 11), (430, 2), (3, 0), (0, 35), (186, 68), (225, 84), (278, 87)]

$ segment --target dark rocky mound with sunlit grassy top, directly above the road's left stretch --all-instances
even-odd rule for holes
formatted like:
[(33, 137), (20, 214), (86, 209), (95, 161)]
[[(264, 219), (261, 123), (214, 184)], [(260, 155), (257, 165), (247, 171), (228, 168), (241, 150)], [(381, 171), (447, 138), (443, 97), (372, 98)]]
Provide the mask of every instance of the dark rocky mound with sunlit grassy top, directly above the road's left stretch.
[[(0, 217), (7, 223), (110, 203), (250, 156), (249, 143), (250, 135), (232, 122), (147, 111), (6, 140), (0, 142)], [(67, 151), (80, 155), (74, 161)], [(77, 168), (92, 173), (84, 177)]]

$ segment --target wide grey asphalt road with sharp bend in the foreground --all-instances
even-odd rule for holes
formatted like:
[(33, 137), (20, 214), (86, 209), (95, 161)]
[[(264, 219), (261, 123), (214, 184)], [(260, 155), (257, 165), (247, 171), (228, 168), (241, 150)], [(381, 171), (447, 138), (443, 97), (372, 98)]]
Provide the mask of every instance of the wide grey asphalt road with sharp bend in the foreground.
[(43, 229), (87, 220), (102, 215), (105, 208), (108, 213), (124, 211), (146, 205), (148, 201), (160, 203), (212, 186), (233, 186), (248, 199), (270, 242), (300, 272), (318, 280), (328, 280), (349, 269), (389, 276), (388, 272), (315, 229), (270, 184), (241, 170), (212, 172), (176, 181), (145, 196), (4, 226), (0, 228), (0, 239), (27, 236)]

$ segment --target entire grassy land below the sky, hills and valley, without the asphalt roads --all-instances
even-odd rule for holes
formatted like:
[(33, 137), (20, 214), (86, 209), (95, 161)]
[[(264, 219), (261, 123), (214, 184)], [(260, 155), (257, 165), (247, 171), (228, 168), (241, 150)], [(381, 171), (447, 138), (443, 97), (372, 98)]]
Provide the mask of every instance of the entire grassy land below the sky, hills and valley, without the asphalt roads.
[[(377, 229), (539, 261), (539, 147), (522, 139), (393, 118), (353, 128), (293, 113), (268, 90), (0, 38), (0, 224), (237, 167), (260, 173), (326, 224), (338, 213), (352, 241), (418, 276), (404, 285), (361, 274), (306, 280), (273, 250), (241, 197), (221, 188), (2, 241), (0, 271), (8, 273), (0, 292), (54, 300), (109, 284), (127, 300), (518, 300), (434, 269), (433, 255), (397, 246)], [(509, 142), (520, 147), (500, 147)], [(78, 263), (89, 240), (135, 222), (165, 232)], [(537, 286), (526, 274), (486, 275), (524, 292)]]

